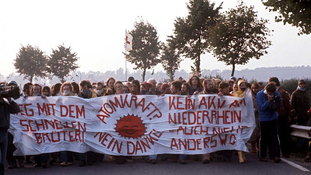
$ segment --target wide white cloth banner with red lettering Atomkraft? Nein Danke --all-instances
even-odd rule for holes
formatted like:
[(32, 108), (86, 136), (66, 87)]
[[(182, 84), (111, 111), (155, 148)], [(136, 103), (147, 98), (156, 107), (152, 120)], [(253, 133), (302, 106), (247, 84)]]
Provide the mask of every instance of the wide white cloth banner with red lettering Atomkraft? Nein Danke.
[(205, 154), (248, 151), (255, 128), (251, 93), (144, 96), (121, 94), (92, 99), (27, 97), (11, 115), (14, 155), (62, 150), (111, 155)]

